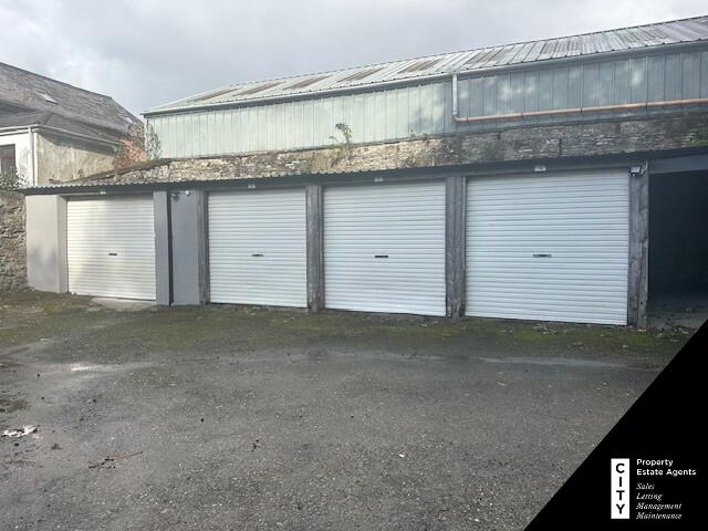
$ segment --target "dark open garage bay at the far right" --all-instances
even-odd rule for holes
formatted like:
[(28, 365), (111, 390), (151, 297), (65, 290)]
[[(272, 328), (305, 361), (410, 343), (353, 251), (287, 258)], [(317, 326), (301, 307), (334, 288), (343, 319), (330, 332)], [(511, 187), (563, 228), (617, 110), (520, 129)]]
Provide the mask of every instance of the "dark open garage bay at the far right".
[(708, 317), (708, 171), (649, 177), (649, 325)]

